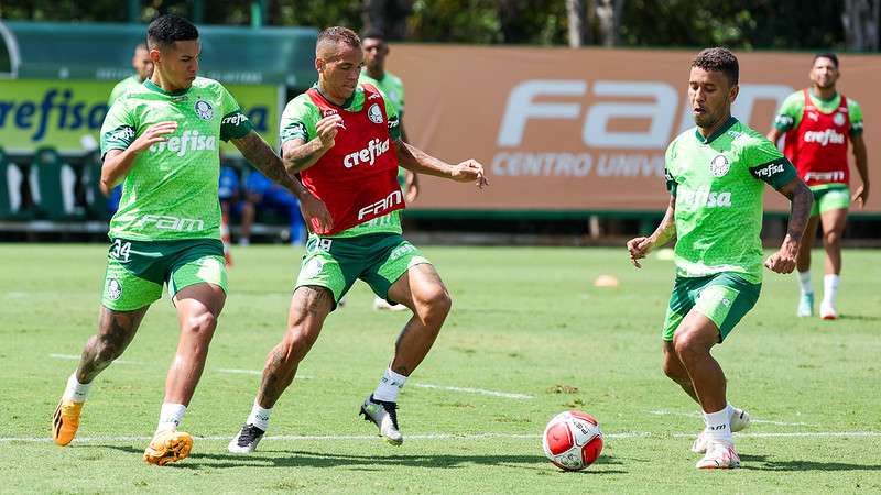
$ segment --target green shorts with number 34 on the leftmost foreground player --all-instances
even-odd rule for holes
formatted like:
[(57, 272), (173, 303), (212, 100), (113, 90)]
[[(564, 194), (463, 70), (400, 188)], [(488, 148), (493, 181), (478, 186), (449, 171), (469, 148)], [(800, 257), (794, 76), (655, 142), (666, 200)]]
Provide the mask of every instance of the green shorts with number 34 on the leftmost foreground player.
[(111, 239), (101, 304), (113, 311), (131, 311), (159, 300), (165, 283), (174, 297), (182, 288), (203, 282), (227, 292), (224, 244), (216, 239)]

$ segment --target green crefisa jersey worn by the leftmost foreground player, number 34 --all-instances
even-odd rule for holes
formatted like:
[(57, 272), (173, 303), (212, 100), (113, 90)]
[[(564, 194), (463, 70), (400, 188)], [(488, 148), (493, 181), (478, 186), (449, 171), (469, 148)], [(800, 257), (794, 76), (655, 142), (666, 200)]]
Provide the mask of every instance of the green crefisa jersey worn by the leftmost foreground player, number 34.
[(110, 107), (101, 127), (101, 154), (126, 150), (164, 121), (177, 122), (177, 130), (134, 158), (110, 220), (110, 237), (220, 239), (218, 141), (244, 136), (251, 122), (216, 80), (198, 77), (188, 89), (174, 92), (148, 80)]

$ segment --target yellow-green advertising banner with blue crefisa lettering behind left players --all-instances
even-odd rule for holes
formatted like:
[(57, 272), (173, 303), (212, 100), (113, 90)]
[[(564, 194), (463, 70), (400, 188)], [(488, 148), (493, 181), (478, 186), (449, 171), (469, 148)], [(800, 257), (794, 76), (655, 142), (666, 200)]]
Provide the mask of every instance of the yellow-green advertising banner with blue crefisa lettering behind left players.
[[(43, 145), (62, 153), (85, 152), (87, 143), (98, 141), (113, 86), (111, 81), (0, 79), (0, 147), (13, 153), (30, 153)], [(274, 147), (279, 88), (227, 85), (227, 89)], [(229, 144), (221, 150), (236, 152)]]

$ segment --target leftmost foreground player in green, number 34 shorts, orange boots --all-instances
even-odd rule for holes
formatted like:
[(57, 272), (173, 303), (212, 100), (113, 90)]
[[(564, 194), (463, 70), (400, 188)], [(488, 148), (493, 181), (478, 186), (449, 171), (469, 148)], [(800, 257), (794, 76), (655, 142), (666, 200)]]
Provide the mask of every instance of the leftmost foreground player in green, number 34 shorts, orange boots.
[(167, 284), (181, 333), (159, 427), (144, 452), (144, 461), (164, 465), (186, 458), (193, 447), (193, 438), (177, 427), (226, 301), (219, 140), (231, 141), (265, 175), (300, 196), (304, 215), (316, 224), (329, 223), (329, 212), (287, 175), (226, 88), (196, 77), (200, 45), (193, 24), (163, 15), (150, 24), (146, 37), (155, 69), (113, 103), (101, 129), (101, 188), (123, 183), (122, 199), (110, 221), (98, 332), (67, 380), (52, 438), (59, 446), (73, 441), (93, 381), (122, 354)]

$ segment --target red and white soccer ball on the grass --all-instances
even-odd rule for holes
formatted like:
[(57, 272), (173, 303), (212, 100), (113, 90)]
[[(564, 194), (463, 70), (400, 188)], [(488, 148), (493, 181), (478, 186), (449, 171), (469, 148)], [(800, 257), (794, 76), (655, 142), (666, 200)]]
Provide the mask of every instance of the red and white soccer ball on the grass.
[(602, 452), (602, 431), (587, 413), (567, 410), (547, 424), (542, 447), (544, 454), (557, 468), (579, 471), (592, 464)]

